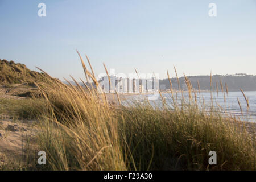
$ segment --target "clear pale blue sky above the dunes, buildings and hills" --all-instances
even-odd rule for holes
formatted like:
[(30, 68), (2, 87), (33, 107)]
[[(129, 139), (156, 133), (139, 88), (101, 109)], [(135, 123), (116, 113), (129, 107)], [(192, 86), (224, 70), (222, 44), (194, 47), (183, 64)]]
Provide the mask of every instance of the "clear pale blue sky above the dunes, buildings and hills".
[(0, 27), (0, 59), (61, 80), (85, 77), (76, 49), (97, 75), (256, 75), (256, 0), (0, 0)]

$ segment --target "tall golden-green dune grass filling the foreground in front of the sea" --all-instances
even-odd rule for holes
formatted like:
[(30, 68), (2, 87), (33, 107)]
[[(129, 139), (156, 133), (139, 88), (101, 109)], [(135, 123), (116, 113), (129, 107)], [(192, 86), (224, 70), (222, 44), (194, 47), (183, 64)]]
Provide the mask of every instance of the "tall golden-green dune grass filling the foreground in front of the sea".
[[(98, 85), (80, 59), (86, 78)], [(237, 127), (238, 121), (206, 114), (195, 101), (183, 100), (179, 107), (171, 92), (172, 107), (165, 100), (163, 107), (147, 101), (112, 105), (96, 89), (48, 79), (50, 84), (38, 86), (46, 102), (36, 107), (42, 121), (39, 148), (47, 154), (47, 165), (40, 169), (255, 169), (255, 136)], [(188, 78), (186, 84), (192, 98)], [(217, 152), (216, 165), (209, 165), (209, 151)]]

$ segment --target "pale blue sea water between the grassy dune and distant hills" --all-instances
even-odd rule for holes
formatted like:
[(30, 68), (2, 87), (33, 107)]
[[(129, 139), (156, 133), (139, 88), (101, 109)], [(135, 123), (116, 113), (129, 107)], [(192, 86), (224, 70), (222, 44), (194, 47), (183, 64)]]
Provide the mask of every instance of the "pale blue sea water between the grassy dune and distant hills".
[[(247, 102), (243, 97), (242, 92), (228, 92), (228, 94), (222, 92), (197, 92), (196, 100), (197, 104), (204, 108), (205, 112), (210, 111), (210, 107), (213, 105), (215, 108), (220, 109), (222, 115), (225, 117), (240, 118), (242, 121), (256, 122), (256, 92), (244, 92), (245, 96), (249, 101), (249, 109), (247, 109)], [(183, 96), (182, 96), (183, 94)], [(172, 106), (172, 98), (170, 93), (162, 93), (162, 96), (167, 101), (168, 105)], [(192, 93), (193, 100), (195, 100), (195, 95)], [(138, 95), (128, 95), (125, 96), (128, 100), (133, 100), (135, 102), (143, 102), (148, 98), (152, 105), (161, 105), (162, 97), (158, 93), (155, 94), (138, 94)], [(187, 103), (189, 103), (188, 92), (178, 92), (177, 95), (174, 92), (174, 98), (177, 99), (177, 103), (181, 104), (182, 98), (184, 98)], [(242, 113), (240, 106), (242, 108)], [(127, 101), (127, 100), (126, 100)]]

